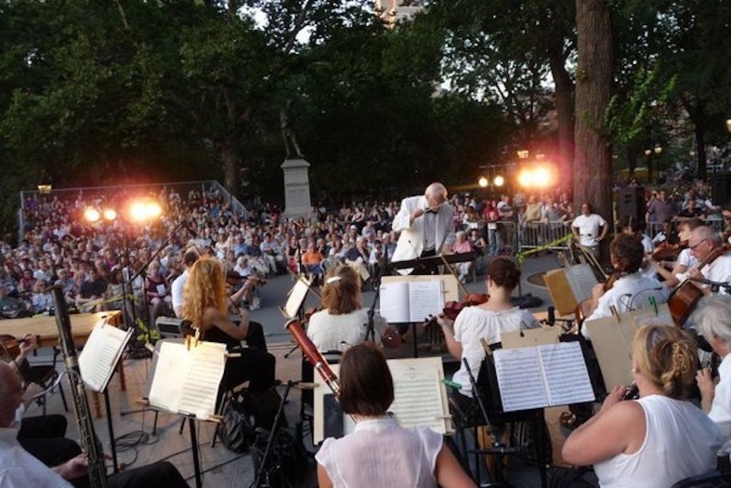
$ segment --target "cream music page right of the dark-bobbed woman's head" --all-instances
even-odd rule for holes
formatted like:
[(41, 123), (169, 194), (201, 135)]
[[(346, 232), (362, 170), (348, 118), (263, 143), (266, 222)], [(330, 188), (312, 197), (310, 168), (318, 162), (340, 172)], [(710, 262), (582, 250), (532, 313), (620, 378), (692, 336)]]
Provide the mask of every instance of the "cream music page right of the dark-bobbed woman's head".
[(394, 391), (389, 411), (401, 427), (429, 427), (441, 434), (451, 430), (441, 358), (391, 359), (388, 369)]

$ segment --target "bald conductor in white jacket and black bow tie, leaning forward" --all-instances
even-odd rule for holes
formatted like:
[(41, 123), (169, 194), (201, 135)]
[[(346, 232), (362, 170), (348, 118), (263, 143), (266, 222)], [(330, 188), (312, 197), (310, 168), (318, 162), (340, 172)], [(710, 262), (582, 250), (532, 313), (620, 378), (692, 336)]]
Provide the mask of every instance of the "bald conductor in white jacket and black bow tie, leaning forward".
[[(400, 232), (392, 262), (437, 256), (455, 242), (454, 210), (447, 202), (447, 188), (431, 183), (421, 197), (401, 200), (393, 218), (393, 230)], [(436, 274), (436, 265), (398, 270), (402, 275)]]

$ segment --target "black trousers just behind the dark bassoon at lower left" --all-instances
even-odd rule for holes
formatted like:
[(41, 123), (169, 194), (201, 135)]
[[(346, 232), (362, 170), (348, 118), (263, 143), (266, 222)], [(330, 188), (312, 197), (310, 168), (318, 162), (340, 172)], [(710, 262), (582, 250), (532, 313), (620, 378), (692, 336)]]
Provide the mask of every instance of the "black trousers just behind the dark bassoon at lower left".
[(67, 420), (62, 415), (26, 417), (20, 424), (18, 442), (37, 460), (53, 468), (81, 454), (77, 443), (64, 438)]

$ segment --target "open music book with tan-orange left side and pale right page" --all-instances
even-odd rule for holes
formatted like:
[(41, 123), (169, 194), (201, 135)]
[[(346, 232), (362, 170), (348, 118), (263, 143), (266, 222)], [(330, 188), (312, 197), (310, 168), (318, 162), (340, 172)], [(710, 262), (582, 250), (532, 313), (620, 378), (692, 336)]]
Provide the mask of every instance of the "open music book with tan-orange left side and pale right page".
[(588, 264), (575, 264), (570, 267), (551, 270), (543, 276), (553, 305), (558, 315), (574, 313), (576, 305), (591, 298), (591, 291), (598, 283), (594, 271)]

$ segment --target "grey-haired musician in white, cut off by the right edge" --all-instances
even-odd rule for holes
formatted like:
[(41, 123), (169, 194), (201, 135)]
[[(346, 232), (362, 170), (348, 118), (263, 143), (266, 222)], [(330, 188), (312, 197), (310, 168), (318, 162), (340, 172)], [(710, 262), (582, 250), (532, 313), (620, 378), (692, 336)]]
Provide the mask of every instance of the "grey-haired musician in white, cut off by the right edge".
[(721, 357), (719, 381), (711, 377), (711, 369), (703, 368), (696, 375), (700, 389), (700, 406), (721, 429), (724, 450), (731, 449), (731, 297), (711, 295), (698, 302), (692, 322), (698, 332)]

